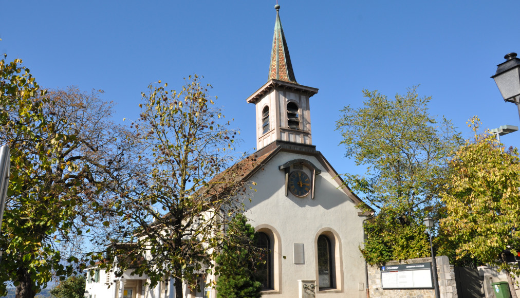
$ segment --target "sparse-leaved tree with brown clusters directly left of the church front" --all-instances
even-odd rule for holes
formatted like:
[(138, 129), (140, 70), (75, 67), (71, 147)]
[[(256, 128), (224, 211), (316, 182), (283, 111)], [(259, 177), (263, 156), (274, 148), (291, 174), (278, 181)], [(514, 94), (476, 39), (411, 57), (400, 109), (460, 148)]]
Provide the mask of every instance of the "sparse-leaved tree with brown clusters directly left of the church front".
[(179, 93), (166, 87), (150, 85), (142, 94), (128, 135), (141, 150), (134, 158), (139, 171), (118, 190), (124, 238), (111, 239), (99, 266), (121, 275), (132, 264), (152, 287), (171, 278), (181, 297), (183, 281), (194, 291), (211, 272), (223, 227), (242, 208), (239, 192), (246, 189), (238, 166), (225, 170), (237, 132), (212, 107), (211, 86), (194, 75)]

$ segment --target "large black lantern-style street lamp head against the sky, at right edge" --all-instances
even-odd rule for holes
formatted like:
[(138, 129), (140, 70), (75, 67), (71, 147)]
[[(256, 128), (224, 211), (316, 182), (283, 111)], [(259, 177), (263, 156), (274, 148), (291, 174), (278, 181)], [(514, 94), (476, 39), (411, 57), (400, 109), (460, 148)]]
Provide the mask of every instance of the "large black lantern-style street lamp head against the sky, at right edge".
[(520, 59), (516, 53), (504, 56), (505, 62), (497, 65), (497, 72), (491, 76), (505, 101), (513, 102), (520, 116)]

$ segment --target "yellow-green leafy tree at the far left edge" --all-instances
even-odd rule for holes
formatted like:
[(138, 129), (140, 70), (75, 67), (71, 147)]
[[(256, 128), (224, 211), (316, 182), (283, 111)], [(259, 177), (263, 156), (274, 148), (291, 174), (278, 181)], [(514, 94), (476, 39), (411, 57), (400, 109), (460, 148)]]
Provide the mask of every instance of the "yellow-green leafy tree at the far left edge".
[[(42, 250), (41, 254), (45, 255), (45, 259), (48, 261), (35, 263), (32, 267), (34, 271), (40, 271), (45, 267), (45, 270), (41, 271), (47, 272), (42, 275), (34, 276), (36, 275), (34, 274), (31, 276), (29, 266), (32, 264), (31, 259), (34, 252), (40, 252), (41, 241), (35, 243), (24, 237), (25, 235), (22, 234), (21, 230), (29, 230), (31, 222), (25, 219), (27, 216), (14, 214), (11, 210), (24, 206), (27, 209), (35, 207), (31, 204), (29, 195), (22, 195), (22, 185), (33, 188), (35, 192), (37, 183), (29, 179), (28, 176), (36, 172), (39, 166), (50, 166), (52, 161), (45, 152), (33, 155), (28, 151), (34, 146), (33, 140), (43, 135), (44, 131), (51, 133), (54, 131), (52, 124), (46, 121), (42, 110), (46, 100), (38, 97), (38, 95), (43, 95), (44, 92), (40, 90), (29, 69), (20, 66), (21, 59), (6, 62), (6, 57), (4, 55), (4, 59), (0, 60), (0, 135), (2, 136), (0, 142), (2, 142), (2, 145), (10, 146), (11, 176), (6, 211), (2, 223), (1, 247), (5, 253), (1, 263), (2, 270), (0, 270), (0, 276), (4, 282), (0, 291), (6, 294), (6, 281), (12, 280), (17, 286), (17, 296), (33, 297), (37, 289), (40, 288), (39, 286), (50, 280), (48, 269), (52, 265), (48, 266), (48, 264), (53, 264), (53, 261), (55, 261), (54, 254), (48, 248)], [(49, 141), (57, 142), (59, 137), (62, 136), (53, 136)], [(38, 144), (38, 147), (42, 148), (42, 151), (47, 149), (43, 148), (42, 144)], [(53, 149), (59, 148), (54, 146), (48, 148), (48, 150)], [(12, 197), (22, 196), (27, 200), (12, 200)], [(15, 212), (18, 213), (18, 210)], [(20, 219), (20, 221), (17, 219)], [(47, 218), (43, 218), (42, 221), (45, 219)], [(20, 256), (18, 260), (10, 260), (12, 251), (16, 251)], [(43, 257), (41, 260), (43, 260)], [(20, 266), (16, 262), (19, 262)], [(20, 286), (21, 284), (23, 286)]]

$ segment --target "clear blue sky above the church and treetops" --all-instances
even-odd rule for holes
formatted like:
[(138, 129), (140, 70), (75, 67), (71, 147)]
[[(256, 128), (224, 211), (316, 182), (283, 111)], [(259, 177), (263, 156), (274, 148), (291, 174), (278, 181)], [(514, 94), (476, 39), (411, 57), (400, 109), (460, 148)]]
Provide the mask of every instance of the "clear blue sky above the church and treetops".
[[(40, 85), (105, 90), (116, 121), (136, 119), (140, 93), (162, 80), (205, 76), (212, 95), (255, 146), (254, 107), (245, 99), (267, 82), (276, 11), (272, 1), (3, 1), (0, 53), (23, 59)], [(279, 0), (298, 83), (311, 98), (313, 144), (336, 171), (360, 172), (334, 131), (339, 110), (361, 90), (394, 96), (420, 84), (432, 114), (466, 137), (473, 115), (489, 128), (519, 125), (489, 77), (520, 52), (515, 1)], [(515, 33), (516, 32), (516, 33)], [(517, 146), (520, 132), (503, 136)]]

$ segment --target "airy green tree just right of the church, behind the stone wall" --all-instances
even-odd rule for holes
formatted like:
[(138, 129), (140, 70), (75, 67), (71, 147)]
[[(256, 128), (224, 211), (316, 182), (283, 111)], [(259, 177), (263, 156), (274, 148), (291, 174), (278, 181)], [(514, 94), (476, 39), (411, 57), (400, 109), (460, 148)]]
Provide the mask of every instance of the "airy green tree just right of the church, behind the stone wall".
[(365, 165), (365, 175), (347, 174), (346, 184), (365, 193), (376, 210), (366, 223), (368, 239), (361, 252), (369, 264), (430, 255), (423, 218), (438, 216), (446, 183), (447, 161), (460, 136), (445, 118), (428, 114), (431, 97), (416, 87), (388, 99), (363, 90), (364, 106), (345, 107), (336, 122), (346, 157)]

